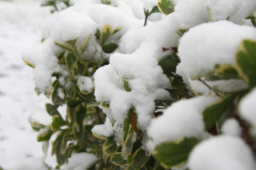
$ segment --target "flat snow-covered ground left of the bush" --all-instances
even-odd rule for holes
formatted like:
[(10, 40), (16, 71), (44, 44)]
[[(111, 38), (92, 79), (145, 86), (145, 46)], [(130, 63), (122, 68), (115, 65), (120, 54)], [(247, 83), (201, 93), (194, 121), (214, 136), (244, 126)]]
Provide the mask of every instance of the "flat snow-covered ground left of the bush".
[[(42, 144), (29, 119), (48, 124), (49, 100), (34, 91), (32, 68), (22, 51), (40, 43), (40, 29), (50, 17), (37, 0), (0, 0), (0, 165), (9, 167), (27, 157), (42, 158)], [(37, 57), (37, 56), (35, 56)]]

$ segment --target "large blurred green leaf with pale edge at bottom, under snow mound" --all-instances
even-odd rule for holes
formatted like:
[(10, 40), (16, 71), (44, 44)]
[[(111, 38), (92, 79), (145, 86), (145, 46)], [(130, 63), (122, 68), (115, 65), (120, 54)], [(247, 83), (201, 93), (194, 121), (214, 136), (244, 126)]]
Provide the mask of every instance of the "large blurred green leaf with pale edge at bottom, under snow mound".
[(188, 159), (192, 148), (199, 141), (196, 138), (184, 138), (179, 142), (165, 142), (153, 150), (154, 158), (165, 168), (171, 168)]

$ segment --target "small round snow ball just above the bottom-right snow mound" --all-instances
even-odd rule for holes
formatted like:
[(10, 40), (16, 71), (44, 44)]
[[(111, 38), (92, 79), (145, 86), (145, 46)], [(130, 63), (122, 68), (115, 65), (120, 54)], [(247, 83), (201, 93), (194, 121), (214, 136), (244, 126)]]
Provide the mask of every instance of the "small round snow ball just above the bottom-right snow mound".
[(242, 128), (236, 119), (227, 119), (221, 127), (221, 132), (227, 135), (240, 136), (242, 133)]

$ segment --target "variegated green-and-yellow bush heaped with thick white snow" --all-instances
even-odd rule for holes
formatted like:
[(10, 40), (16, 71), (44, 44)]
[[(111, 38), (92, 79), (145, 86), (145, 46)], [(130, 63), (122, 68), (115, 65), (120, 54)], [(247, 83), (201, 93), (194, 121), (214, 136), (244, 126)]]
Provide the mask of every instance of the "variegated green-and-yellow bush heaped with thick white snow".
[(58, 168), (256, 169), (255, 0), (69, 2), (22, 55)]

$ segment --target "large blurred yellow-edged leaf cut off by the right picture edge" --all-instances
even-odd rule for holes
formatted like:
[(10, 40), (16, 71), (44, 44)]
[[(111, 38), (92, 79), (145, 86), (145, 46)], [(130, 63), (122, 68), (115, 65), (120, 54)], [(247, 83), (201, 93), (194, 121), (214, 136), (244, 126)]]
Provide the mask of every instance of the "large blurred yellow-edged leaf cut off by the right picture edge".
[(236, 54), (236, 67), (239, 75), (250, 86), (256, 86), (256, 41), (244, 40)]

